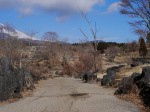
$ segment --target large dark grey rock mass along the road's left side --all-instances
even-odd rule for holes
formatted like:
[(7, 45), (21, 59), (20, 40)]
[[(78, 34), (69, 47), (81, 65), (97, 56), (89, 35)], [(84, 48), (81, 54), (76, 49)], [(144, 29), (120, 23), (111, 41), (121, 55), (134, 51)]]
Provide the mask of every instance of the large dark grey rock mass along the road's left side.
[(0, 59), (0, 101), (22, 97), (24, 87), (33, 87), (32, 75), (25, 69), (15, 69), (8, 57)]

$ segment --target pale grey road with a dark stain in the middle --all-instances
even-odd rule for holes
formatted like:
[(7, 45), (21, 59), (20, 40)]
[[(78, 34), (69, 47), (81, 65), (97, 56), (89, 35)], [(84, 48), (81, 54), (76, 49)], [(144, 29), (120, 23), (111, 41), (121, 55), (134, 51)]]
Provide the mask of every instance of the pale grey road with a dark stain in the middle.
[(32, 96), (0, 106), (0, 112), (138, 112), (113, 93), (73, 78), (49, 79)]

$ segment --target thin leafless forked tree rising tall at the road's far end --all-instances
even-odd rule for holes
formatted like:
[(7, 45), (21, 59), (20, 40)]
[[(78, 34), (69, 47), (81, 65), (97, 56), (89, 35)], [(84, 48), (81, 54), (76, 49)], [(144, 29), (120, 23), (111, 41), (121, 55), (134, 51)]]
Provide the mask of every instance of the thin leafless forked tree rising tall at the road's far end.
[(94, 39), (94, 47), (93, 47), (93, 43), (89, 41), (89, 36), (82, 30), (80, 29), (81, 33), (84, 35), (85, 39), (87, 40), (87, 44), (89, 44), (89, 46), (91, 46), (92, 48), (92, 52), (93, 52), (93, 58), (94, 58), (94, 71), (97, 71), (97, 64), (96, 64), (96, 58), (97, 58), (97, 46), (98, 46), (98, 41), (97, 41), (97, 25), (96, 22), (94, 24), (94, 26), (92, 25), (92, 23), (90, 22), (90, 20), (87, 18), (87, 14), (81, 12), (82, 17), (84, 18), (85, 22), (87, 23), (87, 26), (92, 34), (92, 37)]

